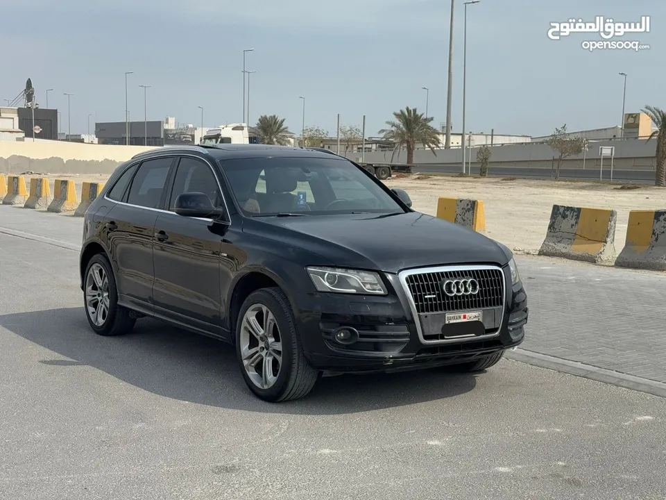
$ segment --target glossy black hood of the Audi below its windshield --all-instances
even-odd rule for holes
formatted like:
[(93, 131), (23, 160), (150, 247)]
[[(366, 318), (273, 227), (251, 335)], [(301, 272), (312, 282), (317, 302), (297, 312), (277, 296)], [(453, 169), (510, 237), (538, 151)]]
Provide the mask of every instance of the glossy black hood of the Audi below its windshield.
[(397, 273), (449, 264), (505, 265), (497, 243), (418, 212), (247, 219), (244, 231), (307, 249), (338, 267)]

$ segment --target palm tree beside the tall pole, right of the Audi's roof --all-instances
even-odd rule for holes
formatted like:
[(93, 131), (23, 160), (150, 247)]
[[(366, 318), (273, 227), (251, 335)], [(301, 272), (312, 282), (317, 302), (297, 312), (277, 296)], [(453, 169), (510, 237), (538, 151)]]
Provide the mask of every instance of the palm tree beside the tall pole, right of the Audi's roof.
[(416, 143), (420, 142), (425, 147), (430, 148), (433, 154), (435, 148), (441, 145), (439, 133), (430, 122), (432, 117), (424, 117), (423, 113), (418, 113), (416, 108), (404, 108), (404, 110), (393, 112), (395, 120), (386, 122), (388, 128), (379, 131), (386, 140), (395, 142), (395, 148), (407, 149), (407, 163), (414, 163), (414, 149)]

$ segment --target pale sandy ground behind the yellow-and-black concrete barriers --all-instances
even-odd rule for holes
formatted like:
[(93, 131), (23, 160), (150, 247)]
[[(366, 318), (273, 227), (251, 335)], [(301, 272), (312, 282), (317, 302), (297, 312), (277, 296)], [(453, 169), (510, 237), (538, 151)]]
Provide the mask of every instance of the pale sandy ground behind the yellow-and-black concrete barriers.
[[(26, 181), (30, 176), (26, 176)], [(51, 192), (56, 178), (71, 178), (76, 195), (81, 196), (83, 181), (105, 182), (108, 175), (49, 175)], [(550, 211), (554, 204), (613, 208), (617, 210), (615, 249), (624, 247), (629, 210), (666, 210), (666, 189), (640, 187), (620, 190), (619, 185), (586, 182), (554, 182), (500, 178), (459, 178), (454, 176), (416, 176), (386, 181), (390, 188), (403, 188), (413, 208), (436, 215), (439, 197), (481, 199), (486, 207), (486, 227), (490, 238), (499, 240), (518, 253), (536, 253), (543, 242)], [(29, 186), (28, 186), (29, 188)]]

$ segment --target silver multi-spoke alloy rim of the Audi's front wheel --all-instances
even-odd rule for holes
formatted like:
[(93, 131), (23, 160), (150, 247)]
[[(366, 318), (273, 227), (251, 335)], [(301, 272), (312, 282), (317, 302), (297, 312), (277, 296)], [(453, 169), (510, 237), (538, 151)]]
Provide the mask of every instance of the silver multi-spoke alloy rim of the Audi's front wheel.
[(253, 304), (241, 320), (241, 357), (250, 381), (269, 389), (282, 367), (282, 338), (275, 315), (264, 304)]

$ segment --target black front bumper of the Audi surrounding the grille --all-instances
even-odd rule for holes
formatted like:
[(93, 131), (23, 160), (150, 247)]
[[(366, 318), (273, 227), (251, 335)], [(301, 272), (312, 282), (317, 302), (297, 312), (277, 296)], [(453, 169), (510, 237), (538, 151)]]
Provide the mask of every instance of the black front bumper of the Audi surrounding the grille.
[[(393, 372), (466, 363), (511, 349), (524, 340), (529, 309), (522, 283), (511, 286), (506, 277), (499, 328), (459, 340), (424, 342), (423, 316), (413, 314), (398, 276), (388, 276), (394, 293), (384, 297), (302, 294), (295, 312), (305, 356), (326, 372)], [(353, 328), (359, 340), (339, 344), (339, 328)]]

